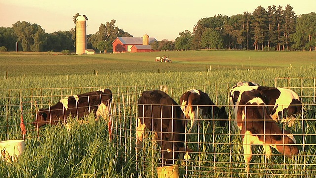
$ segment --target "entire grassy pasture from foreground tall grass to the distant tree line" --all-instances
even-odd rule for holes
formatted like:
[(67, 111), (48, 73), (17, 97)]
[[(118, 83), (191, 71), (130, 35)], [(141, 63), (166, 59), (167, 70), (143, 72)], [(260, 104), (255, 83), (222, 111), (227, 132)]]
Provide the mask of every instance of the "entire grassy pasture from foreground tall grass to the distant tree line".
[[(167, 55), (172, 63), (155, 62)], [(276, 77), (316, 77), (313, 52), (183, 51), (98, 55), (0, 54), (0, 138), (21, 139), (20, 104), (27, 127), (26, 148), (17, 162), (0, 161), (0, 177), (152, 177), (158, 148), (145, 142), (135, 154), (137, 98), (143, 90), (165, 90), (179, 102), (187, 89), (201, 89), (219, 106), (229, 110), (228, 90), (238, 81), (275, 86)], [(7, 76), (5, 76), (5, 71)], [(97, 71), (97, 73), (95, 73)], [(5, 79), (6, 77), (6, 79)], [(250, 174), (244, 171), (241, 138), (216, 122), (188, 135), (195, 151), (180, 175), (197, 177), (309, 177), (316, 175), (315, 80), (278, 80), (305, 97), (308, 112), (290, 128), (301, 154), (288, 160), (274, 152), (264, 157), (254, 148)], [(304, 88), (305, 87), (305, 88)], [(107, 123), (74, 123), (74, 129), (31, 123), (35, 110), (74, 93), (109, 88), (113, 97), (113, 142)], [(314, 103), (313, 103), (314, 102)], [(36, 105), (34, 104), (36, 103)], [(73, 120), (70, 120), (72, 122)], [(229, 133), (229, 134), (228, 134)]]

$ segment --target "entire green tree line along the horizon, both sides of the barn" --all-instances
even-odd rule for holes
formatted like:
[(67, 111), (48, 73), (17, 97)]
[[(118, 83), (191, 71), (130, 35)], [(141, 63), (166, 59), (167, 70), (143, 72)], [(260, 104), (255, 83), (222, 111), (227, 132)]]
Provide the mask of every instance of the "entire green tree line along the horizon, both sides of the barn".
[[(80, 14), (73, 16), (73, 22)], [(88, 20), (86, 15), (83, 15)], [(116, 20), (100, 25), (95, 34), (87, 35), (87, 48), (112, 51), (112, 42), (117, 37), (133, 37), (115, 26)], [(0, 49), (19, 51), (75, 51), (75, 28), (69, 31), (46, 33), (38, 24), (16, 22), (12, 27), (0, 27)], [(287, 5), (258, 6), (252, 13), (215, 15), (202, 18), (193, 31), (179, 33), (174, 42), (156, 41), (152, 49), (199, 50), (239, 49), (261, 51), (316, 50), (316, 13), (296, 15)], [(2, 46), (2, 47), (1, 47)]]

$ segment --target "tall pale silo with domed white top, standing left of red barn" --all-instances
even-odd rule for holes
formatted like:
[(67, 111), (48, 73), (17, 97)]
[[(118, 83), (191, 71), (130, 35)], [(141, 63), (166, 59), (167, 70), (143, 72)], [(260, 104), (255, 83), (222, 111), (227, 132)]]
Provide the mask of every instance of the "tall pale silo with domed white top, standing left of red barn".
[(86, 20), (82, 15), (76, 18), (76, 54), (84, 54), (86, 49)]

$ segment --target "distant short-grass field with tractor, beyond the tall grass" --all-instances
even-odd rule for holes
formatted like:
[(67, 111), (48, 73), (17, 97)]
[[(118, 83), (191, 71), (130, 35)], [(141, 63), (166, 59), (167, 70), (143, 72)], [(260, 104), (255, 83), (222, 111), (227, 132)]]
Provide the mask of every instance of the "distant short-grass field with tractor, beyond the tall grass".
[[(314, 52), (253, 52), (253, 51), (183, 51), (124, 53), (99, 55), (19, 55), (0, 54), (0, 71), (4, 76), (74, 75), (115, 72), (185, 72), (207, 68), (262, 69), (266, 67), (301, 67), (313, 65)], [(166, 55), (173, 63), (154, 62)], [(315, 56), (314, 56), (315, 58)], [(314, 59), (315, 60), (315, 59)], [(316, 63), (316, 61), (314, 62)]]

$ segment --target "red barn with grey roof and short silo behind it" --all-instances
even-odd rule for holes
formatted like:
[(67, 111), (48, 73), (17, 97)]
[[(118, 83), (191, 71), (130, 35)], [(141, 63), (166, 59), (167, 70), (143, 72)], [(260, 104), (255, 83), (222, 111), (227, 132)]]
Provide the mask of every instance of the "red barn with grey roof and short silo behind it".
[(112, 42), (113, 53), (154, 52), (149, 44), (155, 41), (155, 38), (149, 38), (147, 34), (143, 37), (117, 37)]

